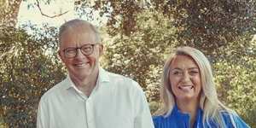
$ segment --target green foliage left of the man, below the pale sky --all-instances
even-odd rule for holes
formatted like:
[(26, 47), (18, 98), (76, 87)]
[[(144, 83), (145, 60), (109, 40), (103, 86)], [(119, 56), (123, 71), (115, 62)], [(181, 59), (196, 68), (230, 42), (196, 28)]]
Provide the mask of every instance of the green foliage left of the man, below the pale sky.
[[(49, 29), (47, 32), (53, 33)], [(56, 47), (50, 47), (56, 42), (47, 37), (47, 32), (44, 37), (36, 37), (23, 30), (3, 30), (0, 117), (9, 127), (35, 127), (40, 96), (64, 77), (62, 66), (51, 51)]]

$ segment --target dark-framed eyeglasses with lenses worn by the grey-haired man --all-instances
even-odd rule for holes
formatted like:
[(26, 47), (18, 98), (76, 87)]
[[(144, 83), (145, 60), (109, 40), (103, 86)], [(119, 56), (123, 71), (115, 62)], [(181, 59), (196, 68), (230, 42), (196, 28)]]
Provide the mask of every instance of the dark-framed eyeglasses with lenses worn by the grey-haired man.
[(80, 49), (83, 55), (91, 55), (93, 53), (95, 45), (96, 44), (84, 44), (83, 46), (78, 48), (67, 48), (63, 49), (63, 53), (66, 58), (73, 58), (78, 54), (78, 49)]

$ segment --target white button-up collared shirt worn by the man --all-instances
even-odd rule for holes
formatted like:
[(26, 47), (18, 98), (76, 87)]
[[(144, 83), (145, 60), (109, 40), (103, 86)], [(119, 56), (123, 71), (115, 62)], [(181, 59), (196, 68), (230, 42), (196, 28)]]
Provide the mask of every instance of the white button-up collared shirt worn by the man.
[(38, 128), (154, 128), (137, 82), (100, 68), (89, 97), (67, 79), (48, 90), (38, 105)]

